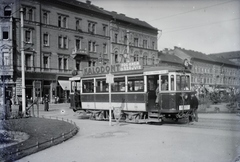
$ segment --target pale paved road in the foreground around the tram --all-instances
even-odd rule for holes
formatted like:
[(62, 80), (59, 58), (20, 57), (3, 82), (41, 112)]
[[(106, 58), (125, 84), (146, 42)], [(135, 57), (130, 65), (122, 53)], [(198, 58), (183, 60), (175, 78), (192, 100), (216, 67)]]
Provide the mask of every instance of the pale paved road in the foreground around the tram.
[(168, 122), (109, 126), (106, 121), (78, 119), (69, 105), (51, 105), (40, 115), (68, 118), (80, 132), (57, 146), (19, 162), (231, 162), (240, 154), (240, 117), (199, 114), (194, 125)]

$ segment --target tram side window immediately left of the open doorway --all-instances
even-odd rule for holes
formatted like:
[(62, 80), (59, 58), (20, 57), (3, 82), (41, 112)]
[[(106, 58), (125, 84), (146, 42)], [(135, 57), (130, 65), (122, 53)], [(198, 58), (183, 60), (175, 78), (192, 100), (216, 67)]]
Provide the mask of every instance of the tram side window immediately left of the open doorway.
[(128, 77), (128, 92), (143, 92), (143, 76)]

